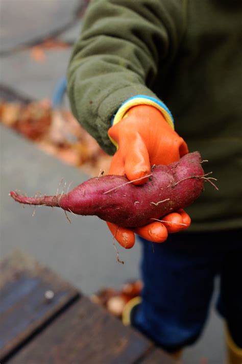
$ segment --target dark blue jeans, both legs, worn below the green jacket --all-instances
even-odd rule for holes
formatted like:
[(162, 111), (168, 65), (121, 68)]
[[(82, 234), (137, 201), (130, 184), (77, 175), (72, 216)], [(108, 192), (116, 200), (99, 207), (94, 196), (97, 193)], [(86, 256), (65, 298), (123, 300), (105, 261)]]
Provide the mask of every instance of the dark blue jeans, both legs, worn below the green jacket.
[(132, 324), (167, 351), (192, 344), (205, 324), (220, 276), (217, 309), (242, 348), (241, 230), (170, 234), (162, 244), (141, 240), (142, 303)]

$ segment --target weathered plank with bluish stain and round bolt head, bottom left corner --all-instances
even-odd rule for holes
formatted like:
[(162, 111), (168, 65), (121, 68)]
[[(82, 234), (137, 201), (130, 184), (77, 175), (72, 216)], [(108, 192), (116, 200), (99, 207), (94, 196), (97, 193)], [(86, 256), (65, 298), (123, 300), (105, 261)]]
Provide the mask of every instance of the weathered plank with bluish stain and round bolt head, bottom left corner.
[[(0, 360), (79, 297), (79, 292), (33, 258), (14, 252), (0, 263)], [(49, 293), (48, 293), (49, 291)], [(47, 299), (46, 296), (51, 298)]]

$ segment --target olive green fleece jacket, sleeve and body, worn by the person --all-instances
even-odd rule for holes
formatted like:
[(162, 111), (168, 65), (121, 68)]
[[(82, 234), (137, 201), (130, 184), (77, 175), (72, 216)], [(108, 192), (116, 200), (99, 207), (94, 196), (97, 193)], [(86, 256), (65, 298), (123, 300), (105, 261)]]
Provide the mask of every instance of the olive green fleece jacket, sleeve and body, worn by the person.
[(241, 0), (93, 0), (68, 67), (72, 112), (109, 154), (107, 131), (135, 95), (162, 100), (219, 191), (186, 210), (189, 231), (242, 227)]

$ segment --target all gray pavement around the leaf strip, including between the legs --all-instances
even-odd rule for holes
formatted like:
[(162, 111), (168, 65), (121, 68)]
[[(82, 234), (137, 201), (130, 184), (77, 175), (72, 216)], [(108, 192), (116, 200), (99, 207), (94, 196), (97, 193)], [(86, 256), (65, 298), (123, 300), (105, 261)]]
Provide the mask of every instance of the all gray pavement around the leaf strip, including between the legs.
[[(36, 34), (42, 36), (42, 28), (49, 27), (52, 19), (55, 22), (54, 28), (59, 28), (63, 15), (61, 12), (65, 13), (68, 8), (67, 15), (70, 16), (76, 6), (75, 0), (29, 0), (36, 6), (35, 12), (32, 12), (32, 7), (26, 6), (27, 2), (28, 0), (0, 0), (1, 18), (8, 14), (11, 20), (11, 27), (5, 23), (4, 46), (16, 45), (27, 39), (23, 35), (29, 32), (30, 25), (25, 28), (25, 24), (22, 24), (23, 15), (29, 20), (34, 18), (33, 24), (35, 26), (36, 22), (36, 31), (38, 30)], [(3, 9), (6, 9), (3, 8), (4, 3), (5, 7), (8, 6), (8, 13), (3, 12)], [(19, 17), (10, 14), (14, 10), (10, 9), (9, 4), (17, 4), (19, 9), (22, 8), (19, 10)], [(55, 11), (57, 5), (62, 9), (58, 10), (58, 22)], [(37, 19), (35, 13), (38, 13)], [(69, 18), (67, 20), (69, 21)], [(78, 33), (79, 24), (74, 22), (63, 32), (60, 39), (72, 41)], [(50, 50), (46, 52), (45, 61), (39, 63), (30, 57), (29, 50), (6, 55), (1, 59), (1, 83), (33, 99), (51, 98), (57, 80), (66, 72), (70, 53), (70, 48)], [(138, 278), (139, 244), (129, 251), (119, 248), (120, 258), (125, 261), (125, 265), (117, 263), (110, 233), (105, 223), (98, 218), (70, 215), (69, 224), (62, 210), (47, 207), (36, 208), (35, 216), (32, 217), (33, 207), (22, 208), (8, 196), (12, 189), (20, 189), (29, 195), (35, 195), (37, 191), (55, 194), (61, 178), (67, 184), (72, 181), (74, 186), (86, 180), (88, 176), (44, 154), (30, 141), (2, 126), (0, 132), (1, 257), (13, 249), (21, 249), (49, 265), (86, 295), (103, 286), (118, 287), (126, 280)], [(216, 295), (217, 288), (214, 300)], [(184, 363), (222, 364), (223, 359), (222, 320), (211, 308), (201, 339), (184, 352)]]

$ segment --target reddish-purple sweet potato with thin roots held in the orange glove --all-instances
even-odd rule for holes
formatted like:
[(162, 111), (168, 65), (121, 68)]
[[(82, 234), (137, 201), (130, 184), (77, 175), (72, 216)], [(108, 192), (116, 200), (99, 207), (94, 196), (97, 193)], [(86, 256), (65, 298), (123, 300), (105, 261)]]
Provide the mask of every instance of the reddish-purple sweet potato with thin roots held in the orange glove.
[(154, 222), (192, 204), (203, 191), (204, 171), (199, 152), (170, 165), (152, 167), (147, 183), (135, 186), (125, 176), (95, 177), (57, 196), (25, 197), (10, 192), (23, 204), (57, 206), (79, 215), (96, 215), (133, 228)]

